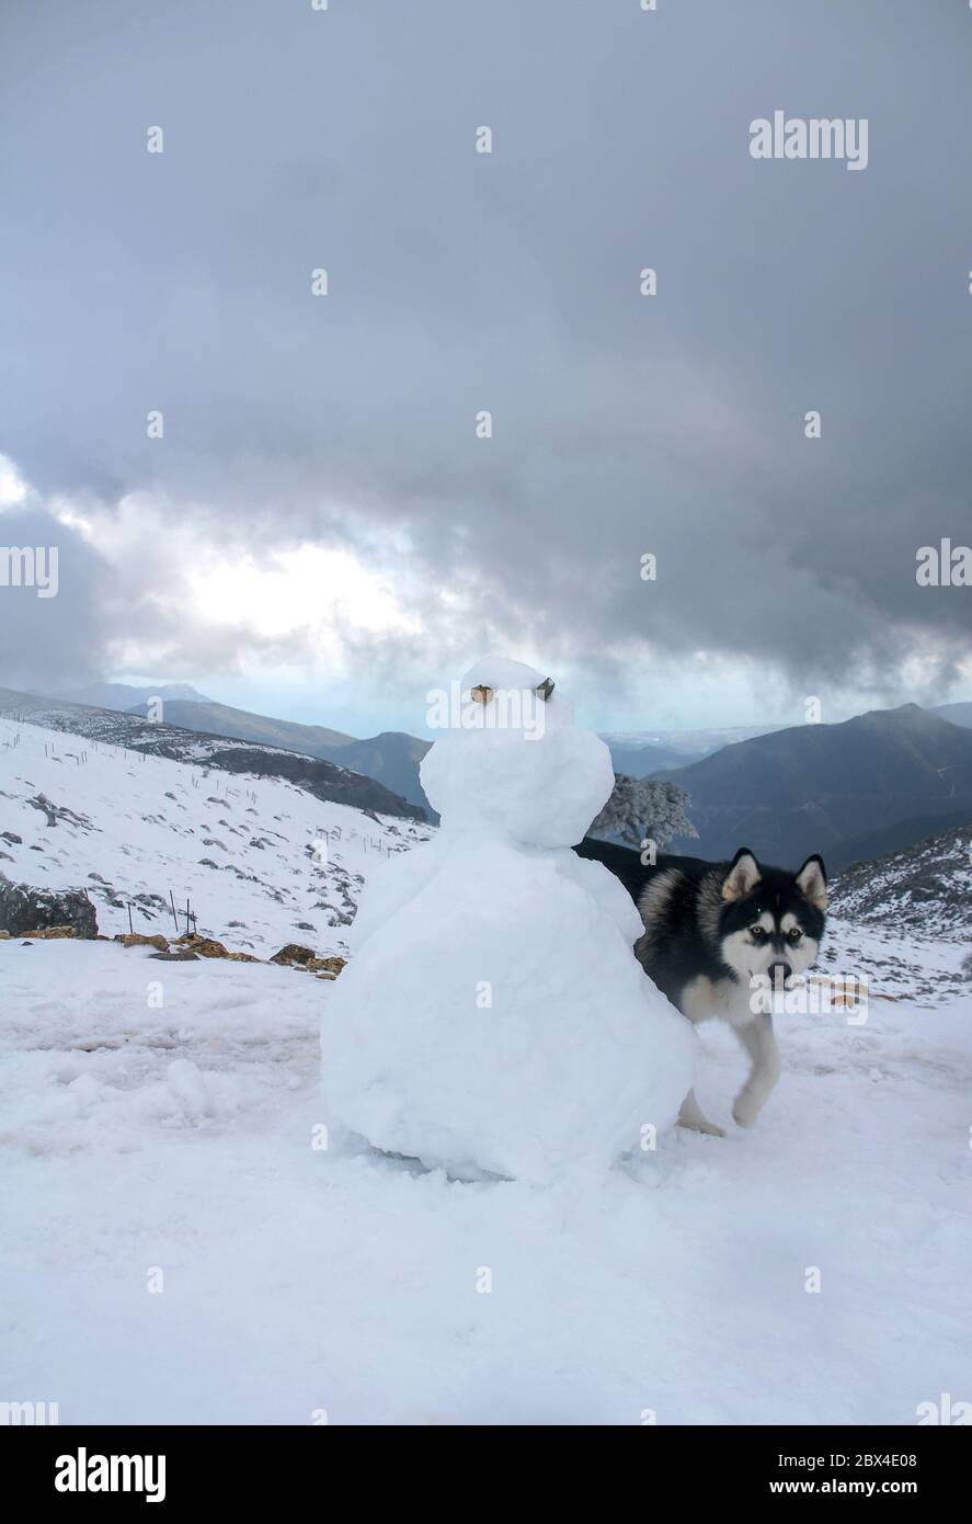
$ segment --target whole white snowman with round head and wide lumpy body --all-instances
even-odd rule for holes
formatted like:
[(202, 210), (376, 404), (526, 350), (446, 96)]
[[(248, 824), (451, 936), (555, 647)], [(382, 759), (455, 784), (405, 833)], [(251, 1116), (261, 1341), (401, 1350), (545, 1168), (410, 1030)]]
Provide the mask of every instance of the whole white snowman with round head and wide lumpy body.
[(454, 690), (420, 768), (442, 826), (369, 878), (328, 988), (328, 1117), (459, 1178), (603, 1170), (675, 1122), (693, 1052), (634, 957), (626, 890), (571, 850), (611, 754), (520, 661)]

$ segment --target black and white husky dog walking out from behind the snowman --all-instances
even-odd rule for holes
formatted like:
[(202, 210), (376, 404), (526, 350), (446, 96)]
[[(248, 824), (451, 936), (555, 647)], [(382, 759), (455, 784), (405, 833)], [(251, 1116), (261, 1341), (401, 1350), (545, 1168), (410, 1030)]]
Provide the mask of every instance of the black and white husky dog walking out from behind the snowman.
[[(733, 1117), (751, 1128), (780, 1077), (769, 994), (807, 969), (824, 933), (827, 872), (814, 853), (797, 873), (759, 864), (748, 847), (731, 863), (660, 856), (651, 867), (629, 847), (585, 837), (574, 847), (622, 879), (644, 933), (635, 956), (644, 972), (690, 1021), (719, 1017), (750, 1056), (750, 1077)], [(678, 1119), (724, 1137), (695, 1091)]]

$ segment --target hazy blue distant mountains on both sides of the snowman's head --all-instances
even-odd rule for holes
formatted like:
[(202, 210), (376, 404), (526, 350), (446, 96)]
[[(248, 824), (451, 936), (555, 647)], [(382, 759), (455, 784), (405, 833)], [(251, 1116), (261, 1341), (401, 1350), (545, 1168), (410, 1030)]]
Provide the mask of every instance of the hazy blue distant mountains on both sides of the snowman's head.
[[(357, 739), (216, 704), (187, 684), (104, 683), (81, 692), (140, 718), (149, 698), (163, 698), (168, 725), (335, 764), (439, 818), (419, 782), (431, 745), (419, 736), (392, 730)], [(73, 701), (85, 703), (79, 693)], [(731, 856), (740, 844), (780, 863), (823, 852), (836, 872), (972, 820), (972, 703), (905, 704), (838, 725), (609, 732), (603, 739), (615, 773), (664, 777), (689, 791), (699, 832), (692, 850), (705, 858)]]

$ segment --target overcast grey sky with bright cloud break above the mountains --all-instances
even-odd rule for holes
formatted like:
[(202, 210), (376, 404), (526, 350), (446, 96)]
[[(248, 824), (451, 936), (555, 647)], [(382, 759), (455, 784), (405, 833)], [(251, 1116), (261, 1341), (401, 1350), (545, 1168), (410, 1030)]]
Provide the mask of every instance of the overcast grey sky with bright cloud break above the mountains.
[[(914, 575), (972, 539), (972, 11), (657, 5), (3, 0), (0, 541), (59, 591), (0, 587), (0, 683), (360, 735), (486, 649), (600, 728), (972, 695)], [(867, 168), (754, 160), (777, 108)]]

